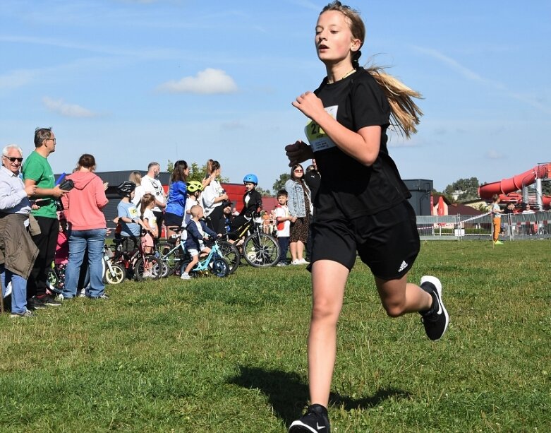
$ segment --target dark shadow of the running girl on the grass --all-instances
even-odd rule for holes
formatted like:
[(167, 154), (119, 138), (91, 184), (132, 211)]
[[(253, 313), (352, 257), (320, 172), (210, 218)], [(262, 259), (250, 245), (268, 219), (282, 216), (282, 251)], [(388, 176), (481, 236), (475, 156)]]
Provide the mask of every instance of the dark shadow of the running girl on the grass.
[[(281, 370), (265, 370), (258, 367), (239, 366), (240, 374), (229, 380), (230, 384), (243, 388), (257, 388), (264, 393), (277, 417), (290, 425), (301, 416), (308, 403), (308, 386), (296, 373)], [(368, 409), (379, 405), (387, 398), (408, 398), (409, 393), (399, 389), (380, 389), (373, 396), (350, 398), (331, 393), (329, 405), (342, 406), (345, 410)]]

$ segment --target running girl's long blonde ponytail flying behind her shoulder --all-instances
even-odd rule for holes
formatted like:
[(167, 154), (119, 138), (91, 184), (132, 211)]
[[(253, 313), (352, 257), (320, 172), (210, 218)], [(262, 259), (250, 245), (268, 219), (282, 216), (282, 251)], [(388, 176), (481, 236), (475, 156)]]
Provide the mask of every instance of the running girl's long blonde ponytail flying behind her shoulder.
[(383, 71), (384, 68), (380, 66), (369, 66), (365, 69), (375, 78), (387, 96), (391, 109), (390, 123), (394, 129), (406, 138), (416, 134), (416, 126), (423, 112), (411, 98), (423, 99), (423, 95), (408, 88), (407, 85)]

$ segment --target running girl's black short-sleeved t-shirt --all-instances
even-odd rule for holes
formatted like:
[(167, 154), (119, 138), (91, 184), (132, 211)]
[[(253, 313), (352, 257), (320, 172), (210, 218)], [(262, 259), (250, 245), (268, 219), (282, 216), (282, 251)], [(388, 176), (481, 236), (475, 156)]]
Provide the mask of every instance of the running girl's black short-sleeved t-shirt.
[(351, 131), (375, 125), (382, 129), (379, 155), (373, 165), (366, 167), (335, 146), (315, 122), (306, 126), (321, 174), (315, 200), (317, 215), (358, 218), (392, 208), (409, 198), (411, 194), (388, 154), (390, 106), (375, 78), (365, 69), (332, 84), (326, 78), (315, 95), (325, 110)]

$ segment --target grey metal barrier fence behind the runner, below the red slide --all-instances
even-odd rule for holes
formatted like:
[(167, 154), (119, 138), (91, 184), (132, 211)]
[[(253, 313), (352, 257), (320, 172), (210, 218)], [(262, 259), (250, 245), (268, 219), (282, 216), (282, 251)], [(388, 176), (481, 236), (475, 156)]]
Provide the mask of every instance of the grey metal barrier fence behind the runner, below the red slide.
[[(551, 237), (551, 211), (509, 213), (502, 215), (499, 239), (546, 239)], [(443, 215), (417, 217), (417, 230), (422, 240), (491, 239), (492, 216)]]

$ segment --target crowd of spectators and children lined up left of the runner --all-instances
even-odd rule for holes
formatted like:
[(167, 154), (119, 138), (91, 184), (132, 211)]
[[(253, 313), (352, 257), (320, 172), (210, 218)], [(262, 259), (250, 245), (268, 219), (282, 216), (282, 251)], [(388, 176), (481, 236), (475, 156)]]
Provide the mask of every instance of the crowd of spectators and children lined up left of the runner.
[[(102, 267), (108, 234), (102, 210), (109, 202), (105, 194), (108, 184), (95, 174), (95, 157), (86, 153), (71, 174), (55, 179), (49, 164), (56, 150), (51, 128), (37, 128), (34, 144), (26, 158), (15, 144), (2, 150), (0, 307), (9, 309), (13, 318), (32, 317), (38, 309), (59, 307), (75, 297), (108, 299)], [(277, 237), (277, 266), (308, 264), (313, 202), (320, 185), (320, 174), (315, 160), (312, 162), (307, 170), (301, 165), (291, 168), (289, 181), (277, 192), (277, 206), (272, 210), (262, 209), (262, 196), (256, 191), (258, 177), (246, 174), (241, 212), (220, 184), (218, 161), (207, 161), (202, 182), (188, 182), (187, 162), (176, 161), (168, 194), (158, 179), (159, 163), (150, 162), (146, 174), (133, 171), (128, 182), (117, 187), (121, 201), (114, 220), (116, 237), (140, 239), (145, 251), (152, 252), (162, 227), (167, 237), (177, 235), (182, 230), (179, 227), (188, 227), (183, 232), (189, 237), (186, 247), (192, 261), (181, 275), (186, 280), (190, 267), (205, 251), (204, 238), (228, 235), (238, 243), (240, 239), (232, 235), (254, 218), (262, 232)], [(63, 269), (59, 287), (52, 287), (49, 281), (54, 263)], [(147, 271), (145, 276), (150, 275)]]

